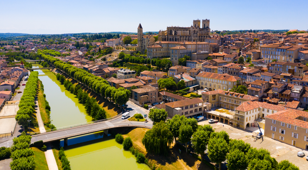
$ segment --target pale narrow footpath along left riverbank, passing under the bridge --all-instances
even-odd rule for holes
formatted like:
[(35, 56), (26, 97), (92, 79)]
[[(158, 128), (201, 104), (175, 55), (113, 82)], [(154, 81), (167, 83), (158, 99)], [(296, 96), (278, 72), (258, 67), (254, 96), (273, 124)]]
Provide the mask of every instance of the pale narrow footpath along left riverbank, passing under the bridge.
[[(38, 101), (38, 97), (35, 98), (36, 102), (36, 118), (38, 119), (38, 123), (39, 123), (39, 130), (41, 133), (45, 133), (46, 129), (44, 127), (44, 123), (41, 117), (41, 112), (39, 110), (39, 101)], [(49, 170), (58, 170), (58, 166), (57, 166), (57, 162), (55, 160), (55, 156), (54, 153), (52, 152), (51, 146), (49, 143), (45, 144), (47, 146), (47, 151), (45, 151), (45, 157), (46, 157), (46, 161), (47, 161), (47, 165), (48, 165), (48, 169)]]

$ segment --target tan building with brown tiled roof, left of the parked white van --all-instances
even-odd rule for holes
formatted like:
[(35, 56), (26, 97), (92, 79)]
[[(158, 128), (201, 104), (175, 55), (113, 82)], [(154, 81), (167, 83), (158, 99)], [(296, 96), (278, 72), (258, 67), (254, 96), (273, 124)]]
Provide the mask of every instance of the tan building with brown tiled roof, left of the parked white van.
[(187, 118), (196, 118), (203, 114), (203, 101), (200, 98), (180, 100), (165, 103), (168, 117), (172, 118), (178, 114)]

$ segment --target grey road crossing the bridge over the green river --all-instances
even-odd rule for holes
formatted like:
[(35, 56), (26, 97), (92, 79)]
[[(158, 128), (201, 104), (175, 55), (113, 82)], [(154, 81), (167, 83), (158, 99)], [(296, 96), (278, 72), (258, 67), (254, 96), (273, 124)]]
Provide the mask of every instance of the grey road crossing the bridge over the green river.
[[(131, 103), (128, 104), (128, 110), (130, 110), (131, 115), (133, 116), (136, 114), (136, 112), (140, 114), (146, 114), (144, 113), (143, 110), (140, 108), (137, 108), (135, 105)], [(103, 129), (108, 129), (116, 126), (134, 126), (134, 125), (140, 125), (140, 126), (149, 126), (152, 127), (152, 122), (131, 122), (127, 121), (126, 119), (121, 119), (121, 117), (111, 120), (111, 121), (106, 121), (106, 122), (99, 122), (99, 123), (93, 123), (89, 125), (84, 125), (84, 126), (79, 126), (75, 128), (69, 128), (69, 129), (63, 129), (63, 130), (57, 130), (53, 132), (47, 132), (47, 133), (41, 133), (39, 135), (33, 135), (31, 139), (31, 143), (35, 141), (40, 141), (40, 140), (59, 140), (63, 139), (65, 136), (71, 135), (70, 137), (73, 136), (79, 136), (81, 134), (87, 134), (87, 133), (92, 133), (96, 131), (101, 131)], [(6, 141), (0, 144), (0, 147), (10, 147), (12, 145), (13, 141)]]

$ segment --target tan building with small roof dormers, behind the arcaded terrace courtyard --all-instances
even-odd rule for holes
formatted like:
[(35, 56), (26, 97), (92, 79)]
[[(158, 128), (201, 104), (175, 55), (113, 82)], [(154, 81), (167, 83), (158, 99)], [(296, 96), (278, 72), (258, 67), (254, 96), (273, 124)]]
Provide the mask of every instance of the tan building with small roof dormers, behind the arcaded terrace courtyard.
[(202, 93), (203, 102), (210, 103), (210, 108), (207, 108), (207, 110), (216, 107), (234, 110), (234, 108), (237, 108), (243, 102), (258, 101), (258, 99), (259, 98), (250, 95), (244, 95), (224, 90), (214, 90)]

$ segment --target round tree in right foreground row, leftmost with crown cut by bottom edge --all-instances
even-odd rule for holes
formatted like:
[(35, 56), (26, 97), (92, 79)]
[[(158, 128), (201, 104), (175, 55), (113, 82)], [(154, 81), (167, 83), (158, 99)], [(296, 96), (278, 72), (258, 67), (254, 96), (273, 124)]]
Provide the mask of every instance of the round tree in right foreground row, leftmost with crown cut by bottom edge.
[(248, 166), (248, 161), (244, 152), (238, 149), (230, 150), (227, 154), (227, 165), (230, 170), (245, 170)]

